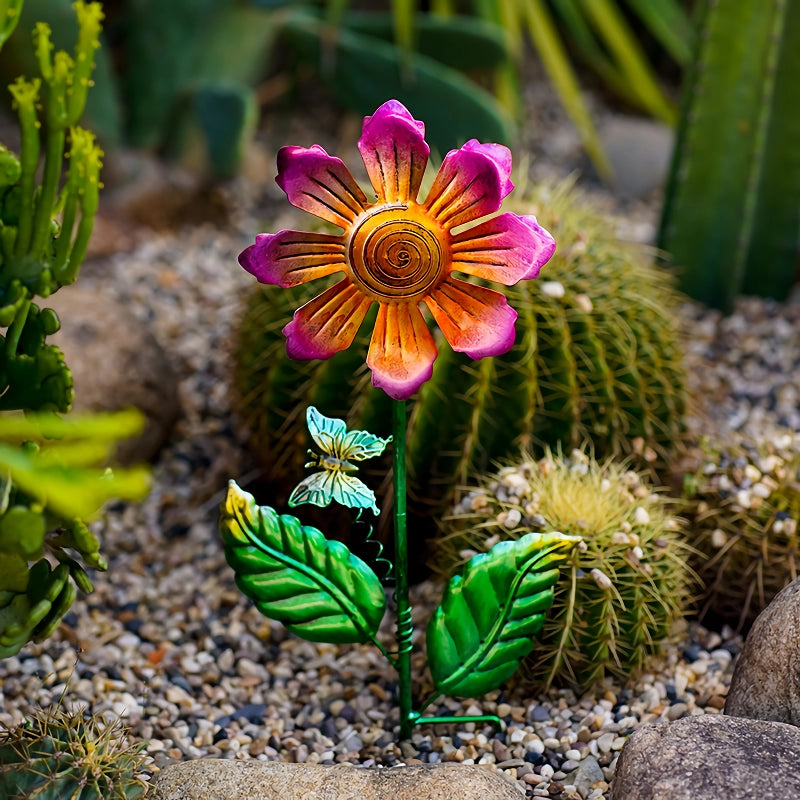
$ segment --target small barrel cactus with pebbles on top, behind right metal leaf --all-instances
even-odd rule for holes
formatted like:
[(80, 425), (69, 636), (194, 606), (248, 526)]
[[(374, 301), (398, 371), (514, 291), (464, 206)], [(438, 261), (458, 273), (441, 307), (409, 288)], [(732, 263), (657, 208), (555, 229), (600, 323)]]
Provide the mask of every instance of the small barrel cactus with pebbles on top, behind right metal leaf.
[(444, 523), (434, 566), (449, 575), (475, 552), (532, 530), (582, 536), (523, 675), (532, 689), (627, 680), (658, 653), (689, 599), (689, 548), (663, 495), (627, 466), (583, 451), (502, 468)]

